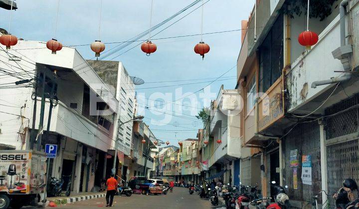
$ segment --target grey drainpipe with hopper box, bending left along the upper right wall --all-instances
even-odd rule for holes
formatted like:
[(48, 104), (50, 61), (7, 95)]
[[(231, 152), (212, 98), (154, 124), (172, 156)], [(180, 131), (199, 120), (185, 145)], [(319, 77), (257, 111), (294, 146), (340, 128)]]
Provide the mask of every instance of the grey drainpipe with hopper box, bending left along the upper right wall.
[[(346, 9), (345, 8), (347, 5), (348, 5), (348, 0), (342, 0), (342, 2), (340, 3), (339, 12), (340, 12), (341, 47), (334, 50), (332, 52), (332, 54), (333, 54), (334, 58), (342, 61), (345, 71), (350, 71), (351, 66), (349, 65), (349, 63), (350, 63), (349, 59), (350, 59), (350, 55), (353, 51), (352, 51), (351, 45), (346, 45), (346, 31), (345, 31), (345, 28), (346, 28), (345, 11), (346, 11)], [(346, 73), (342, 77), (334, 77), (334, 78), (331, 78), (329, 80), (324, 80), (324, 81), (315, 81), (312, 83), (311, 87), (315, 89), (315, 88), (317, 88), (317, 86), (345, 82), (345, 81), (350, 80), (351, 78), (352, 78), (352, 74)]]

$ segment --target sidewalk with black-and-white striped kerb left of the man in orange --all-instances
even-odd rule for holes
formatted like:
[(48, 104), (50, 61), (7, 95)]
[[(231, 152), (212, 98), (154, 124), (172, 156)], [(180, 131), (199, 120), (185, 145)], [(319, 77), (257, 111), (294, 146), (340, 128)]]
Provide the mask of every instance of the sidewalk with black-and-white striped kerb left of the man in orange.
[(78, 195), (73, 195), (70, 197), (50, 197), (47, 198), (48, 201), (53, 201), (56, 205), (63, 205), (68, 203), (75, 203), (79, 201), (85, 201), (90, 199), (102, 198), (106, 196), (106, 192), (86, 192), (80, 193)]

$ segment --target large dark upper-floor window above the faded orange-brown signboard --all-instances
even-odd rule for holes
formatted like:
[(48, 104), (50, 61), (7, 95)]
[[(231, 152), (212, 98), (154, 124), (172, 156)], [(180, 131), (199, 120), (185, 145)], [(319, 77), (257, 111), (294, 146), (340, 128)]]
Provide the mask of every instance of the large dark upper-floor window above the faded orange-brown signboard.
[(283, 15), (280, 15), (259, 47), (259, 92), (266, 92), (283, 69)]

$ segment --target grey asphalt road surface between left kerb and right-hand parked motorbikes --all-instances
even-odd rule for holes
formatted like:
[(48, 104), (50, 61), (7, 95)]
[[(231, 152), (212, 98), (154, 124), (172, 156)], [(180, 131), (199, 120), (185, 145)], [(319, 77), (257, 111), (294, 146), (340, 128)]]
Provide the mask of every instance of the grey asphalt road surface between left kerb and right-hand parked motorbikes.
[[(105, 207), (106, 199), (91, 199), (82, 202), (66, 204), (57, 208), (90, 209)], [(131, 197), (115, 196), (112, 208), (117, 209), (211, 209), (208, 200), (200, 199), (195, 193), (188, 194), (188, 189), (175, 187), (173, 193), (167, 195), (138, 195)]]

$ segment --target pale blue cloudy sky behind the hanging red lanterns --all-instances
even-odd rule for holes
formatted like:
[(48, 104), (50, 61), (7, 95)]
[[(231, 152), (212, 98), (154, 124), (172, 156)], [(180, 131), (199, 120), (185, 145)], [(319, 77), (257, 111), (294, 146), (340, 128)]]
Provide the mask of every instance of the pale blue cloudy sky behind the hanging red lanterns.
[[(154, 0), (153, 25), (193, 1)], [(18, 9), (12, 13), (12, 34), (25, 40), (47, 41), (53, 38), (57, 0), (16, 2)], [(157, 32), (200, 4), (191, 7)], [(60, 0), (59, 5), (56, 38), (60, 42), (64, 45), (90, 44), (98, 38), (100, 0)], [(203, 33), (240, 29), (241, 20), (248, 18), (253, 5), (254, 0), (209, 0), (203, 8)], [(119, 42), (147, 30), (150, 8), (151, 0), (103, 0), (100, 39), (103, 42)], [(1, 9), (0, 27), (7, 29), (8, 21), (9, 11)], [(199, 8), (154, 38), (198, 34), (200, 22)], [(154, 31), (153, 34), (157, 32)], [(175, 145), (178, 140), (196, 136), (196, 129), (203, 125), (195, 118), (195, 114), (203, 105), (208, 106), (209, 101), (216, 98), (220, 86), (223, 84), (225, 89), (233, 89), (236, 84), (234, 66), (240, 50), (240, 31), (203, 35), (203, 41), (210, 45), (210, 52), (203, 61), (193, 52), (194, 45), (199, 41), (200, 36), (154, 40), (157, 51), (151, 56), (146, 56), (140, 46), (118, 56), (138, 44), (134, 43), (105, 59), (123, 62), (131, 76), (140, 77), (147, 82), (137, 86), (140, 112), (146, 116), (145, 122), (159, 139), (170, 140)], [(108, 44), (106, 49), (117, 45)], [(84, 58), (93, 58), (89, 46), (76, 48)], [(233, 69), (209, 85), (205, 91), (198, 91), (231, 68)], [(192, 94), (194, 92), (197, 93)], [(176, 104), (160, 105), (164, 104), (163, 101), (172, 102), (186, 95), (191, 96)], [(203, 101), (203, 98), (206, 100)], [(150, 109), (145, 109), (145, 106)]]

